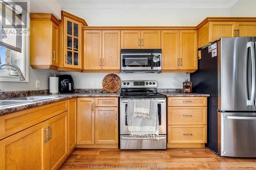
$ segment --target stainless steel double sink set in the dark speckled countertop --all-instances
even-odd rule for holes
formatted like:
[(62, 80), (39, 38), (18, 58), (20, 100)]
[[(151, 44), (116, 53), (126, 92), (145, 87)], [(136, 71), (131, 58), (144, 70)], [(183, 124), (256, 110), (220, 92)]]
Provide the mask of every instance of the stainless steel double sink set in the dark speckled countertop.
[(0, 100), (0, 109), (6, 108), (9, 106), (15, 106), (15, 105), (37, 102), (37, 101), (44, 101), (44, 100), (55, 99), (55, 98), (59, 98), (59, 96), (31, 96), (31, 97), (24, 97), (24, 98), (2, 99)]

